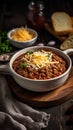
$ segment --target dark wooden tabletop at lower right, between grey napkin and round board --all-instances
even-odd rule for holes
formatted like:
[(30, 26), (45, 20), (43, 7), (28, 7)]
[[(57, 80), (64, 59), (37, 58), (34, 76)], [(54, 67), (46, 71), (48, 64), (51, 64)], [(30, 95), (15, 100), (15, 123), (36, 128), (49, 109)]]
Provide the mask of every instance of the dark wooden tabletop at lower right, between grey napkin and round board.
[(69, 100), (59, 106), (41, 109), (51, 114), (48, 127), (44, 130), (73, 130), (73, 124), (66, 124), (69, 118), (69, 116), (66, 114), (66, 111), (72, 104), (73, 103), (71, 100)]

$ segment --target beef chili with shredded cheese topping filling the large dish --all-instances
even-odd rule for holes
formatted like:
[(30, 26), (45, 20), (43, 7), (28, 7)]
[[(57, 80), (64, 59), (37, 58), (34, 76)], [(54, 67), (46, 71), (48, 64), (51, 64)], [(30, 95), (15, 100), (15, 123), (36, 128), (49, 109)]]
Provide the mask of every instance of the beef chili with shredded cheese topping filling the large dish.
[(53, 51), (37, 49), (18, 56), (12, 67), (23, 77), (46, 80), (63, 74), (67, 69), (67, 63)]

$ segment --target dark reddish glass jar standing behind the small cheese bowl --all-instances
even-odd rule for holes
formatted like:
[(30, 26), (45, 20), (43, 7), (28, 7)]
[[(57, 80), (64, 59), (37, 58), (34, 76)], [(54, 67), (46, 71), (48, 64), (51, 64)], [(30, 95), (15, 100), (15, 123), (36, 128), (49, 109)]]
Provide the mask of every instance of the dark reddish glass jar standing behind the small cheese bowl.
[(26, 17), (27, 26), (39, 31), (45, 23), (45, 17), (43, 14), (43, 2), (31, 1), (31, 3), (28, 5), (28, 9), (29, 10)]

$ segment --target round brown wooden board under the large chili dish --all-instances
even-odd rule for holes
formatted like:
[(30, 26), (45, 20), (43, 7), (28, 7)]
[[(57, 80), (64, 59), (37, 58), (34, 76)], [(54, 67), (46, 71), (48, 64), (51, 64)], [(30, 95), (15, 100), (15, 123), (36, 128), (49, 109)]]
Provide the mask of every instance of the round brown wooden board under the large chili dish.
[(73, 96), (73, 67), (66, 83), (49, 92), (32, 92), (20, 87), (12, 76), (7, 81), (14, 96), (28, 105), (34, 107), (51, 107), (59, 105)]

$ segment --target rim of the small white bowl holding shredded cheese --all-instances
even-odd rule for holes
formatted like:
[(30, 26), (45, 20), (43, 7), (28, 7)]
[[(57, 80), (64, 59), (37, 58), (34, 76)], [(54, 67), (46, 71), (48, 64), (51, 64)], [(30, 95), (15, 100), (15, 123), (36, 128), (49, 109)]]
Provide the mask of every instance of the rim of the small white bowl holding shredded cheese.
[(8, 31), (7, 37), (8, 37), (9, 40), (14, 41), (14, 42), (17, 42), (17, 43), (27, 43), (27, 42), (29, 43), (29, 42), (32, 42), (33, 40), (35, 40), (35, 39), (38, 37), (38, 33), (37, 33), (36, 30), (34, 30), (34, 29), (32, 29), (32, 28), (25, 28), (25, 27), (23, 27), (23, 28), (25, 28), (25, 29), (27, 29), (27, 30), (33, 32), (33, 33), (35, 34), (35, 36), (34, 36), (32, 39), (27, 40), (27, 41), (17, 41), (17, 40), (12, 39), (11, 36), (10, 36), (11, 33), (12, 33), (12, 32), (15, 32), (15, 31), (16, 31), (17, 29), (19, 29), (19, 28), (21, 28), (21, 27), (13, 28), (13, 29), (11, 29), (10, 31)]

